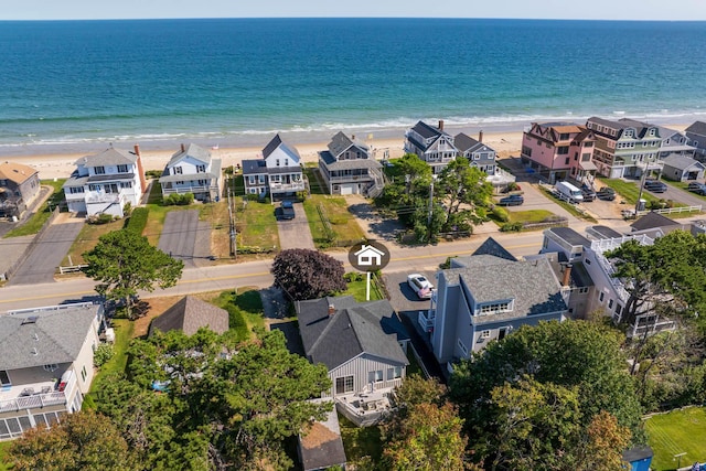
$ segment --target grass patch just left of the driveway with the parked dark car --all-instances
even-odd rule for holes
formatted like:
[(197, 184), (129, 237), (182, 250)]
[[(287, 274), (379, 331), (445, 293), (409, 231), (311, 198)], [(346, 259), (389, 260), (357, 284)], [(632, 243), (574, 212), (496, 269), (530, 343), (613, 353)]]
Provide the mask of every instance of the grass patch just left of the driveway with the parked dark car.
[(243, 196), (235, 199), (235, 226), (238, 233), (238, 246), (261, 249), (279, 248), (279, 233), (275, 206), (268, 201), (248, 201)]

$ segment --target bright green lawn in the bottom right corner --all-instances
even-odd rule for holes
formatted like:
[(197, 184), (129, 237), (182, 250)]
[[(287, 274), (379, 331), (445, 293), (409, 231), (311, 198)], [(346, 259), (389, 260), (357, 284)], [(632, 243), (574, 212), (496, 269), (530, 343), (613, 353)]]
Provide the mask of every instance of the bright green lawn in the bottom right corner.
[(682, 467), (706, 461), (706, 408), (689, 407), (656, 415), (644, 425), (654, 451), (654, 471), (676, 469), (674, 456), (678, 453), (686, 453)]

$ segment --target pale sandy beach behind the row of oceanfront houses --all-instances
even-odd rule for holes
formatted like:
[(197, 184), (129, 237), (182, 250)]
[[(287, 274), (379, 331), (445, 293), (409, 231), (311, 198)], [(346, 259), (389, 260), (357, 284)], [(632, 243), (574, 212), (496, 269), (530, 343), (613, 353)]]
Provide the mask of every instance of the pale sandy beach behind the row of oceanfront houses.
[[(688, 125), (664, 125), (667, 128), (683, 131)], [(449, 133), (457, 135), (458, 132), (466, 132), (467, 135), (478, 139), (478, 130), (469, 129), (447, 129)], [(504, 158), (510, 156), (518, 156), (522, 148), (522, 130), (504, 130), (504, 131), (490, 131), (483, 132), (483, 142), (490, 146), (498, 152), (498, 157)], [(211, 152), (215, 159), (221, 159), (223, 168), (235, 165), (240, 163), (245, 159), (258, 159), (261, 158), (263, 148), (267, 144), (270, 138), (263, 139), (261, 147), (236, 147), (236, 146), (217, 146), (212, 148)], [(327, 148), (328, 141), (320, 142), (298, 142), (297, 139), (284, 136), (282, 139), (290, 146), (293, 146), (299, 151), (304, 162), (317, 162), (319, 159), (319, 151)], [(378, 139), (365, 139), (364, 142), (373, 149), (374, 157), (382, 159), (384, 156), (388, 156), (391, 159), (402, 157), (404, 153), (404, 131), (399, 132), (398, 138), (383, 137)], [(140, 144), (140, 153), (142, 156), (142, 164), (145, 170), (162, 170), (171, 156), (180, 148), (181, 142), (160, 142), (159, 149), (150, 149), (150, 146), (143, 146), (141, 142), (120, 142), (115, 147), (132, 150), (135, 143)], [(189, 143), (189, 141), (184, 142)], [(196, 142), (203, 144), (202, 142)], [(106, 142), (107, 148), (109, 142)], [(95, 147), (95, 144), (94, 144)], [(208, 146), (204, 146), (208, 147)], [(98, 150), (99, 151), (99, 150)], [(24, 163), (26, 165), (34, 167), (40, 171), (40, 179), (52, 180), (63, 179), (71, 175), (75, 170), (75, 162), (82, 157), (97, 153), (98, 151), (90, 149), (85, 152), (77, 152), (75, 149), (72, 151), (62, 153), (61, 149), (56, 153), (44, 154), (15, 154), (7, 152), (0, 160), (13, 161)]]

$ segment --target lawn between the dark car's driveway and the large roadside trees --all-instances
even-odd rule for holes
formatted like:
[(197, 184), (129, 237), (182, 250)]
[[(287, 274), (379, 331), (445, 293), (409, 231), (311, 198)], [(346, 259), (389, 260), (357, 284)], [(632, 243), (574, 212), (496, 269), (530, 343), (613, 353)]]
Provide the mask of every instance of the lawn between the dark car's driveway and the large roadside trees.
[(365, 238), (344, 197), (312, 194), (304, 200), (303, 206), (318, 248)]

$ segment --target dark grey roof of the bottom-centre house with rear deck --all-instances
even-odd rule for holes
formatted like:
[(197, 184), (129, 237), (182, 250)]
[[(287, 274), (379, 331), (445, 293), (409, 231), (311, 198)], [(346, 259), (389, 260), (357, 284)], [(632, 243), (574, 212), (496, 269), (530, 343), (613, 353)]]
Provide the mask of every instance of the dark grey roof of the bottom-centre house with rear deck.
[[(329, 314), (329, 306), (335, 308)], [(367, 353), (399, 365), (407, 357), (397, 343), (409, 339), (389, 301), (359, 303), (351, 296), (297, 303), (299, 332), (307, 356), (333, 370)]]

